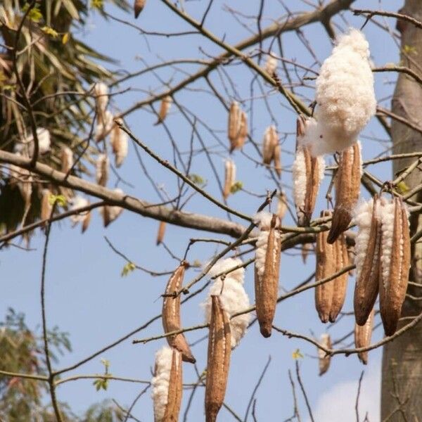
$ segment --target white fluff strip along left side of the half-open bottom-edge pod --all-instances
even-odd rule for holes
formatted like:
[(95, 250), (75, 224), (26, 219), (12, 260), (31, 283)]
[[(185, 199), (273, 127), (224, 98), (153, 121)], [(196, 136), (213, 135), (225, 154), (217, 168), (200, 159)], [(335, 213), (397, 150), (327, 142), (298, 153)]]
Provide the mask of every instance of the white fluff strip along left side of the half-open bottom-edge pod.
[(169, 395), (170, 371), (172, 369), (173, 351), (163, 346), (155, 353), (155, 374), (151, 380), (151, 397), (154, 404), (154, 420), (160, 422), (165, 415)]

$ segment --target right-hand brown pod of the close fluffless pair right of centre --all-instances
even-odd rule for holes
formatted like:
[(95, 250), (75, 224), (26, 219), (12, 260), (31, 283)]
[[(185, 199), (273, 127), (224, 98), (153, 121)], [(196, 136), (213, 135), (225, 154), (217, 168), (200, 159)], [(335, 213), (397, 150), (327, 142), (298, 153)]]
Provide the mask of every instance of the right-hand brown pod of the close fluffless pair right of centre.
[[(347, 243), (345, 234), (340, 234), (338, 239), (333, 243), (333, 246), (335, 248), (335, 272), (338, 272), (347, 267), (349, 264), (349, 255), (347, 255)], [(346, 298), (348, 279), (348, 271), (334, 279), (333, 300), (331, 302), (329, 318), (330, 322), (335, 321), (341, 309), (343, 308)]]

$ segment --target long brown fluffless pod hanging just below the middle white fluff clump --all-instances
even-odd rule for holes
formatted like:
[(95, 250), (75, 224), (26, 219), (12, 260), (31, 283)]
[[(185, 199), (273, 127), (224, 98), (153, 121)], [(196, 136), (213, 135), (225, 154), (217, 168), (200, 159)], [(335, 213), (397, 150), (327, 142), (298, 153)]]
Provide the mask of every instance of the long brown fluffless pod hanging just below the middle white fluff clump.
[(212, 296), (210, 334), (208, 335), (205, 421), (215, 422), (226, 395), (231, 354), (229, 319), (218, 296)]

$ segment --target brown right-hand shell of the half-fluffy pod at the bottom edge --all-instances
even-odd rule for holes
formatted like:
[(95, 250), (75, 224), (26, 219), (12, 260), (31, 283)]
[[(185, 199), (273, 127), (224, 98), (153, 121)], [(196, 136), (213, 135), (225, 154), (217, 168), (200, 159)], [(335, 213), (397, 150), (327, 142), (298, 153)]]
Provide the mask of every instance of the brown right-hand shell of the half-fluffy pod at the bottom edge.
[(182, 354), (173, 349), (172, 369), (170, 370), (169, 390), (167, 395), (167, 404), (162, 422), (179, 421), (179, 412), (181, 405), (181, 395), (183, 391), (182, 377)]

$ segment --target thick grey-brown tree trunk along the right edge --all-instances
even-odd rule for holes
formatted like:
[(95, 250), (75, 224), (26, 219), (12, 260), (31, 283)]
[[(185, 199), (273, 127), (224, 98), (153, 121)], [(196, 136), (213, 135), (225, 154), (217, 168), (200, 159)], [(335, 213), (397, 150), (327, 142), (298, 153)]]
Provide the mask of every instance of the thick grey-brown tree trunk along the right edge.
[[(405, 15), (422, 20), (422, 1), (406, 0), (399, 11)], [(402, 64), (422, 75), (422, 30), (404, 20), (397, 22), (402, 34)], [(392, 112), (422, 127), (422, 88), (411, 77), (400, 73), (392, 98)], [(394, 153), (422, 151), (422, 136), (404, 124), (392, 120), (391, 136)], [(407, 167), (415, 158), (396, 160), (393, 171), (396, 174)], [(394, 176), (393, 176), (394, 178)], [(421, 172), (416, 170), (405, 183), (409, 188), (421, 184)], [(414, 198), (421, 201), (419, 193)], [(422, 226), (419, 215), (411, 217), (411, 232)], [(412, 250), (410, 280), (422, 283), (422, 244)], [(408, 293), (422, 296), (422, 288), (409, 286)], [(422, 301), (404, 302), (402, 316), (415, 316), (422, 312)], [(403, 326), (409, 320), (399, 324)], [(422, 324), (407, 331), (383, 350), (383, 372), (381, 390), (381, 421), (402, 422), (422, 421)]]

